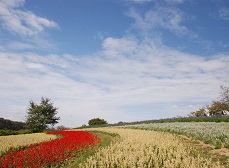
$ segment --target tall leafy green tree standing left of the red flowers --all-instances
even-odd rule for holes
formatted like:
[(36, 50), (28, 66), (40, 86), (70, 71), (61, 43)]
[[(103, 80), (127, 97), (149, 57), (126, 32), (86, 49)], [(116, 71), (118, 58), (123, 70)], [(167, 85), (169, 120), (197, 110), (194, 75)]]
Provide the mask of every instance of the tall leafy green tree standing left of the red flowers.
[(29, 102), (26, 125), (34, 132), (42, 132), (48, 125), (54, 126), (60, 117), (56, 117), (58, 108), (53, 106), (49, 98), (41, 98), (40, 104)]

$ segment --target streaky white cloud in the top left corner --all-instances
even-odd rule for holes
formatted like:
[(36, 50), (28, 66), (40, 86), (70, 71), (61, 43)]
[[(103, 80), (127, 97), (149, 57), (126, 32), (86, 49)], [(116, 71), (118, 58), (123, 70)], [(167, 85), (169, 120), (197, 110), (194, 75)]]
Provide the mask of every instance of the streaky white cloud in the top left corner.
[(36, 36), (45, 27), (57, 27), (57, 23), (53, 21), (36, 16), (31, 11), (22, 10), (24, 3), (24, 0), (0, 1), (1, 26), (5, 30), (21, 36)]

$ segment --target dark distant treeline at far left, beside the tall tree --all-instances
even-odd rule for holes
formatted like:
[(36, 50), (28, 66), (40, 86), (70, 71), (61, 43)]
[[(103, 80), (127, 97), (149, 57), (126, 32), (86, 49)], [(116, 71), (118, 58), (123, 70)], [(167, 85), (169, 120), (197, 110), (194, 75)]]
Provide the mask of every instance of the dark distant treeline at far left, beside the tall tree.
[(21, 130), (25, 128), (24, 122), (11, 121), (8, 119), (0, 118), (0, 130)]

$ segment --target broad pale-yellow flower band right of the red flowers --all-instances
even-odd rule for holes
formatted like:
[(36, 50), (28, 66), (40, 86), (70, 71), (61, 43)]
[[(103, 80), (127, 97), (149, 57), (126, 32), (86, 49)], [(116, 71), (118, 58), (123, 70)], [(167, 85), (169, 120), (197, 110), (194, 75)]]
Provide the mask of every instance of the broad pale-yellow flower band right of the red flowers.
[(117, 133), (120, 138), (100, 149), (80, 167), (125, 167), (125, 168), (220, 168), (199, 150), (185, 143), (181, 137), (171, 133), (149, 130), (97, 128)]

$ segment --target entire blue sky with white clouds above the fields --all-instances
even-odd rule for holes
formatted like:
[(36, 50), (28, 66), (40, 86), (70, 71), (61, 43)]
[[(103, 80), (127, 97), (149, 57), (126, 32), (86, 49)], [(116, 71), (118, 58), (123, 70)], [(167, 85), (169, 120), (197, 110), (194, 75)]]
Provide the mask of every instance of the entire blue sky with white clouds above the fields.
[(229, 85), (228, 0), (0, 0), (0, 117), (187, 116)]

